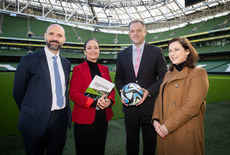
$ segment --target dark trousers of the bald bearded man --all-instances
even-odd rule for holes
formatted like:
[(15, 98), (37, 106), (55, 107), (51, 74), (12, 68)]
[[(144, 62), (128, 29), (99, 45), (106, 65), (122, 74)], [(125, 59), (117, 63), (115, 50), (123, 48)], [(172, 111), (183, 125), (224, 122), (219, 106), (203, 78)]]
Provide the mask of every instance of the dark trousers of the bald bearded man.
[(67, 110), (51, 112), (48, 127), (41, 137), (23, 134), (27, 155), (62, 155), (67, 132)]

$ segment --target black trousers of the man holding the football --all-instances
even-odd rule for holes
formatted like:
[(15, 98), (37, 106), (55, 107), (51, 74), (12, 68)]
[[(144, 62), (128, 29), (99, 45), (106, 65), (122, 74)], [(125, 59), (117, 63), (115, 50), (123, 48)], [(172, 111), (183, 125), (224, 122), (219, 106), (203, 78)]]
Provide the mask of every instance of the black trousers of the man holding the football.
[(125, 113), (126, 153), (139, 154), (140, 128), (143, 137), (143, 155), (154, 155), (156, 150), (156, 132), (151, 124), (152, 116), (143, 116), (140, 112)]

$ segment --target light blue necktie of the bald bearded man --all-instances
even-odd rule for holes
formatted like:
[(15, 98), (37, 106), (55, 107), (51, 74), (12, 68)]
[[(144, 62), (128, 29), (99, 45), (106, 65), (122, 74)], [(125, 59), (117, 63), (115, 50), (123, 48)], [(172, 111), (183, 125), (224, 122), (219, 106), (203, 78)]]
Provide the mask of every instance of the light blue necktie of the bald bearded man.
[(63, 105), (61, 77), (58, 70), (57, 56), (55, 55), (52, 58), (54, 63), (54, 78), (55, 78), (55, 86), (56, 86), (57, 105), (61, 108)]

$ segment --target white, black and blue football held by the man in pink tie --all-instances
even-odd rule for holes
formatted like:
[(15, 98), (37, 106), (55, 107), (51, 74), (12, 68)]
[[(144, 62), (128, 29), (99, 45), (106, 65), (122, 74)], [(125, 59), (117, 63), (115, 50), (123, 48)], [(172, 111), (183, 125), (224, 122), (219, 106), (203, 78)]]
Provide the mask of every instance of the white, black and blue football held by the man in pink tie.
[(121, 90), (121, 100), (128, 106), (133, 106), (142, 100), (143, 90), (136, 83), (129, 83), (125, 85)]

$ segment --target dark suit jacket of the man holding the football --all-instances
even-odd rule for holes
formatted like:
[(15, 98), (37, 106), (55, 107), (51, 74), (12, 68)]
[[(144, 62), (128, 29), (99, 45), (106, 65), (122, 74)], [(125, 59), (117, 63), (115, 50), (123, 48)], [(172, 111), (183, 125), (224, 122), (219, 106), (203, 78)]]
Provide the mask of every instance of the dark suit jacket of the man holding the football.
[(125, 113), (133, 113), (140, 110), (143, 115), (151, 116), (159, 87), (167, 71), (164, 55), (161, 48), (150, 44), (144, 45), (141, 64), (137, 77), (135, 75), (132, 61), (132, 46), (118, 53), (115, 84), (118, 92), (128, 83), (137, 83), (149, 91), (146, 100), (137, 107), (123, 106)]

